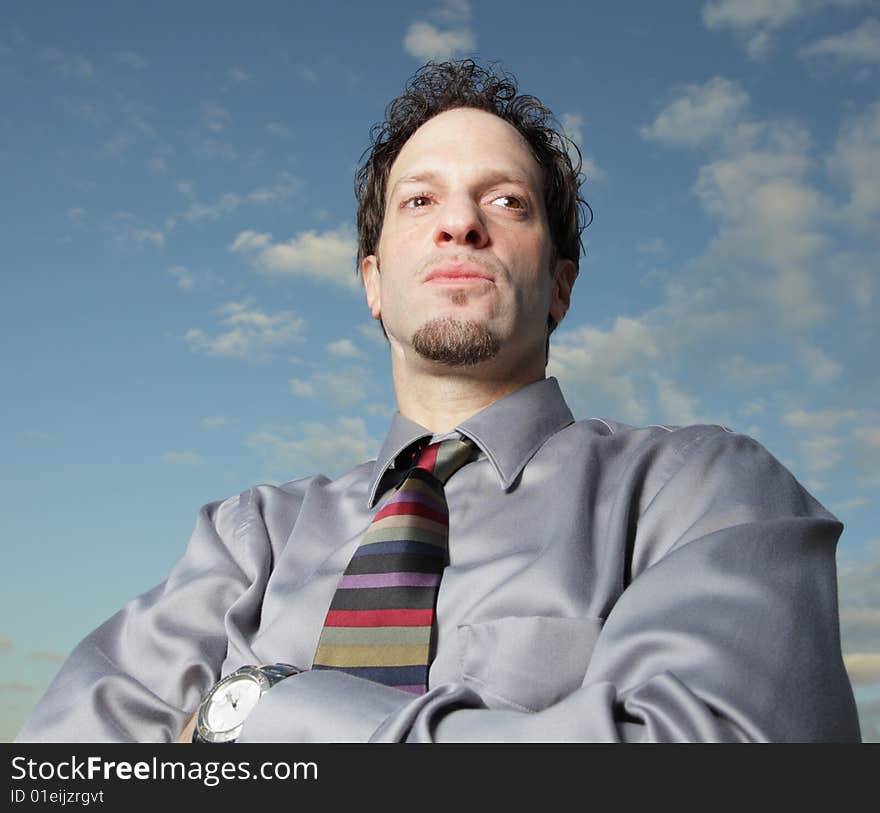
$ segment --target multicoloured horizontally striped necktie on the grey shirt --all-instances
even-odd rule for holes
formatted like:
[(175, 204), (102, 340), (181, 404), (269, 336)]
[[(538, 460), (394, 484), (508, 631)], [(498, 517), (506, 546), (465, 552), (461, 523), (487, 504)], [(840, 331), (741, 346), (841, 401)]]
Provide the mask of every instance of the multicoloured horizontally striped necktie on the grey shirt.
[(448, 559), (443, 486), (473, 452), (460, 438), (417, 452), (336, 588), (314, 669), (337, 669), (413, 694), (427, 691), (434, 608)]

